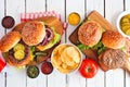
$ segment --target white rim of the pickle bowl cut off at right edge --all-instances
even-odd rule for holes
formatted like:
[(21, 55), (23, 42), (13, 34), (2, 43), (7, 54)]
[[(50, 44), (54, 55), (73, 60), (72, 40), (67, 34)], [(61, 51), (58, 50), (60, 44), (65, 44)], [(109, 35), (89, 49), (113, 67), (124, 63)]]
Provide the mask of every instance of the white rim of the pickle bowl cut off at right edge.
[(127, 38), (130, 38), (130, 36), (128, 36), (127, 34), (125, 34), (121, 28), (120, 28), (120, 20), (127, 15), (127, 14), (130, 14), (130, 11), (123, 11), (121, 12), (118, 17), (117, 17), (117, 22), (116, 22), (116, 26), (117, 26), (117, 29), (118, 32), (123, 36), (123, 37), (127, 37)]

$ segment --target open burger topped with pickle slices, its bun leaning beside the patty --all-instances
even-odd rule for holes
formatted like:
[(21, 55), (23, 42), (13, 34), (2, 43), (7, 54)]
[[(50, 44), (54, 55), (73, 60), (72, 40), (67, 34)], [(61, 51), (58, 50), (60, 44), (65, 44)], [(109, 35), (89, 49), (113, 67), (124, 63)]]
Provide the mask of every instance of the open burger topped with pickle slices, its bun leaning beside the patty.
[(30, 49), (21, 38), (18, 32), (10, 32), (0, 40), (0, 50), (5, 61), (14, 66), (24, 66), (31, 60)]

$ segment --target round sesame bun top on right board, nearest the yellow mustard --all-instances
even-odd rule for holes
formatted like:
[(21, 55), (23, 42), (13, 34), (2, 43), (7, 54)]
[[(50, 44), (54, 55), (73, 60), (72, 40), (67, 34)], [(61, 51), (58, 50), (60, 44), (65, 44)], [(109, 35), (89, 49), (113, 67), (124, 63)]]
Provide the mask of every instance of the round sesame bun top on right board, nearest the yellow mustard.
[(83, 23), (78, 30), (78, 39), (81, 44), (92, 47), (96, 45), (102, 37), (102, 28), (94, 21)]

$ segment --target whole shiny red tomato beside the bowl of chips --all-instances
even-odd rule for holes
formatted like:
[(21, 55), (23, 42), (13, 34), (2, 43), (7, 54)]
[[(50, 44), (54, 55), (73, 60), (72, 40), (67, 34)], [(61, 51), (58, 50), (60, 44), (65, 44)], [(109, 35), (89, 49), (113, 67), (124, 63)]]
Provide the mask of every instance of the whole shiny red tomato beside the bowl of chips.
[(98, 63), (92, 59), (84, 59), (79, 67), (79, 72), (84, 78), (92, 78), (98, 73)]

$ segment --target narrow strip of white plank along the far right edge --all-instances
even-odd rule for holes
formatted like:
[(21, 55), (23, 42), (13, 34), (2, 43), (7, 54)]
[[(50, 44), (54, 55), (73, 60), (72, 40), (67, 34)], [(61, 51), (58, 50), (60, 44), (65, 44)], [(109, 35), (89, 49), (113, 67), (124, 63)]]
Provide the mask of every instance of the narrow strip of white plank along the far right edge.
[[(130, 11), (130, 0), (125, 0), (125, 10)], [(126, 72), (126, 87), (130, 87), (130, 74)]]

